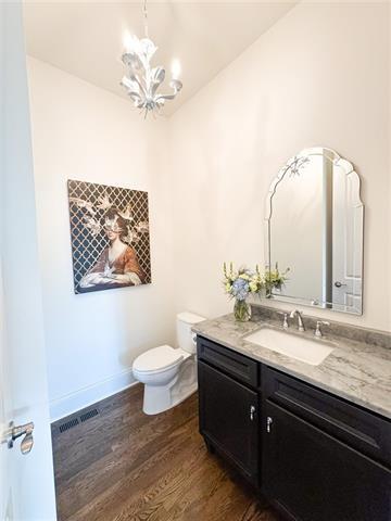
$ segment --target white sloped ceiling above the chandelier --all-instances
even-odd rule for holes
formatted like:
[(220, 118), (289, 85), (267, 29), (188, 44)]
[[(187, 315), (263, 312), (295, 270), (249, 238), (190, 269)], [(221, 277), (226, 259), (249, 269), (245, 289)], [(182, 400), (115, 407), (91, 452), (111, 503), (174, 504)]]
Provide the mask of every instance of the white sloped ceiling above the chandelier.
[[(173, 114), (293, 5), (291, 0), (149, 3), (149, 35), (159, 47), (154, 65), (167, 73), (173, 59), (181, 65), (184, 89), (164, 113)], [(123, 38), (127, 31), (143, 36), (142, 3), (30, 0), (24, 17), (28, 54), (126, 97), (119, 86), (126, 72)]]

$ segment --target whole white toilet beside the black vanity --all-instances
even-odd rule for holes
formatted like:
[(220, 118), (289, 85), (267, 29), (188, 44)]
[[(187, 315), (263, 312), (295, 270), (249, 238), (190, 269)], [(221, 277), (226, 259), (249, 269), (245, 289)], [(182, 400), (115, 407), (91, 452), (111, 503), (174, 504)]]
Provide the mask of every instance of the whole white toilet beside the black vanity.
[(197, 391), (194, 323), (205, 320), (192, 313), (176, 317), (177, 347), (160, 345), (142, 353), (133, 365), (136, 380), (144, 384), (142, 410), (157, 415), (175, 407)]

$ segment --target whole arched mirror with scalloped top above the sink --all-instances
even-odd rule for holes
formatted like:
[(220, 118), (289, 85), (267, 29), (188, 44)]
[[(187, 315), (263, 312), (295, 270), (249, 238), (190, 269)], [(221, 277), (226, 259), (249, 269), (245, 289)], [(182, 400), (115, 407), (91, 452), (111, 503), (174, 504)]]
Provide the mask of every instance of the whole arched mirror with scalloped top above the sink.
[(266, 268), (287, 272), (270, 298), (362, 314), (360, 185), (330, 149), (306, 149), (281, 168), (266, 200)]

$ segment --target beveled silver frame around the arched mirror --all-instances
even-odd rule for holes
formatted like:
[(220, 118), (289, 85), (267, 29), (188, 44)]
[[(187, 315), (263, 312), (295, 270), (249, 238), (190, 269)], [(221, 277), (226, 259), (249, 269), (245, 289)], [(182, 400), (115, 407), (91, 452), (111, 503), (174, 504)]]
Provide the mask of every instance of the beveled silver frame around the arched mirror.
[(361, 302), (360, 306), (344, 306), (341, 304), (333, 304), (332, 302), (319, 302), (319, 301), (310, 301), (306, 298), (293, 297), (288, 295), (279, 295), (273, 292), (273, 290), (268, 291), (266, 294), (267, 298), (273, 298), (275, 301), (287, 302), (291, 304), (300, 304), (303, 306), (311, 306), (318, 309), (329, 309), (335, 312), (342, 312), (349, 313), (353, 315), (362, 315), (363, 314), (363, 292), (364, 292), (364, 203), (361, 199), (361, 179), (358, 174), (355, 171), (354, 166), (348, 160), (341, 157), (337, 152), (331, 149), (327, 149), (324, 147), (314, 147), (310, 149), (302, 150), (299, 154), (293, 155), (286, 165), (278, 171), (277, 176), (273, 179), (270, 183), (270, 188), (266, 195), (266, 203), (265, 203), (265, 269), (266, 271), (270, 268), (270, 219), (273, 215), (273, 196), (276, 193), (278, 185), (282, 181), (285, 176), (288, 173), (297, 173), (304, 164), (306, 163), (306, 158), (310, 155), (321, 155), (323, 157), (327, 157), (336, 167), (340, 167), (343, 169), (345, 176), (354, 176), (356, 178), (355, 183), (355, 191), (354, 191), (354, 201), (353, 207), (361, 208), (362, 212), (362, 251), (361, 251), (361, 262), (362, 262), (362, 288), (361, 288)]

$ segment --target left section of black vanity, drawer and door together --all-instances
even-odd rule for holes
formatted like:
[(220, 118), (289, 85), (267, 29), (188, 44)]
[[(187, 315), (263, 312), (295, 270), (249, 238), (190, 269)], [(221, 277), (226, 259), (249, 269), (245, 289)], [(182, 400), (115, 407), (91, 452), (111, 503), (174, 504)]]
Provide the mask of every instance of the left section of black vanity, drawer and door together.
[(198, 352), (200, 432), (210, 450), (216, 449), (257, 485), (258, 393), (251, 387), (257, 365), (206, 340), (199, 340)]

